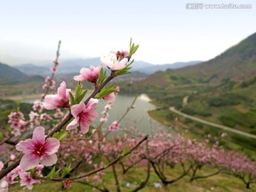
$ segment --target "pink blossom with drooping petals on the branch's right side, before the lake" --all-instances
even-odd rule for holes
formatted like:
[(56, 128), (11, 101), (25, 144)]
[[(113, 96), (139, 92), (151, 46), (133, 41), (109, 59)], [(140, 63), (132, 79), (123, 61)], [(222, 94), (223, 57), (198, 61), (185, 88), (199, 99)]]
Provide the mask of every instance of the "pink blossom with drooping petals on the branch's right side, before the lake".
[(95, 111), (95, 108), (98, 102), (98, 100), (91, 98), (87, 105), (83, 102), (73, 105), (71, 107), (71, 114), (75, 119), (68, 124), (66, 129), (75, 129), (80, 125), (82, 134), (86, 134), (89, 131), (89, 125), (92, 123), (92, 120), (97, 118), (98, 114)]

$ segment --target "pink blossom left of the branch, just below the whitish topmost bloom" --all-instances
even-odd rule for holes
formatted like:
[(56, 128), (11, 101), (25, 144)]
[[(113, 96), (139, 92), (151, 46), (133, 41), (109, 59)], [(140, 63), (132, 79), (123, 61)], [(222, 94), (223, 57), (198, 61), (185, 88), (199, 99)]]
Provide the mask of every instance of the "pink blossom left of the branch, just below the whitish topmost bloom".
[(102, 65), (100, 65), (97, 68), (95, 68), (95, 66), (93, 66), (93, 65), (90, 66), (90, 69), (82, 68), (80, 70), (81, 75), (76, 75), (74, 77), (74, 80), (77, 80), (77, 81), (87, 80), (92, 83), (95, 83), (95, 82), (97, 82), (97, 79), (99, 78), (101, 69), (102, 69)]

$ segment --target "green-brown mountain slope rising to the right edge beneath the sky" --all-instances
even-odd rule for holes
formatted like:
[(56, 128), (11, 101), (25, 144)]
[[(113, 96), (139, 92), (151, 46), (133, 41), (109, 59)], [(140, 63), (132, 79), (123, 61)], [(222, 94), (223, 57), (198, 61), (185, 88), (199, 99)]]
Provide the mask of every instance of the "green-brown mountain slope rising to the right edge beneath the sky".
[(192, 85), (242, 82), (256, 74), (256, 33), (245, 38), (217, 57), (198, 65), (157, 72), (144, 82), (147, 85)]

